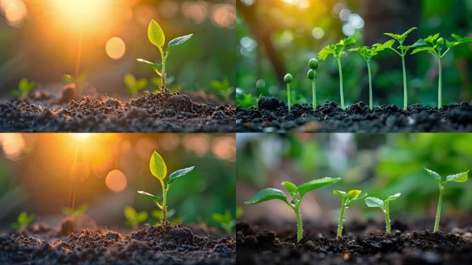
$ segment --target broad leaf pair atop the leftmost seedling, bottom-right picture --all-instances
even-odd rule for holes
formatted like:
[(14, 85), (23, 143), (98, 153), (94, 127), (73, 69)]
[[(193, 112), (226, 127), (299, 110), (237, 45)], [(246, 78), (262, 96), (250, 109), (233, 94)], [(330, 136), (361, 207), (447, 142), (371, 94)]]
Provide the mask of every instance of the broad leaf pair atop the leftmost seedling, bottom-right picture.
[[(326, 186), (331, 186), (340, 180), (341, 180), (340, 177), (337, 177), (337, 178), (324, 177), (322, 179), (315, 179), (312, 181), (308, 181), (299, 186), (296, 186), (290, 181), (283, 181), (282, 186), (284, 186), (288, 190), (288, 193), (290, 193), (292, 196), (299, 194), (300, 197), (303, 197), (306, 193), (308, 193), (311, 190), (315, 190), (317, 188), (323, 188)], [(251, 199), (248, 199), (244, 203), (245, 204), (258, 204), (259, 202), (265, 202), (271, 199), (281, 199), (282, 201), (289, 204), (285, 193), (282, 190), (278, 190), (277, 188), (264, 188), (263, 190), (259, 190), (258, 193), (256, 193)]]

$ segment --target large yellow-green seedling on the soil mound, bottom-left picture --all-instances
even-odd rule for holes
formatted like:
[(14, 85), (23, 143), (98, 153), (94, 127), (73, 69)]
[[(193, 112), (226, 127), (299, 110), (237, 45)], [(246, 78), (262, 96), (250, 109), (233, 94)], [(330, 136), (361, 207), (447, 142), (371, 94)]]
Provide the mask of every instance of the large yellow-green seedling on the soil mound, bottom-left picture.
[(175, 179), (190, 173), (190, 171), (192, 171), (193, 168), (195, 168), (195, 166), (191, 166), (190, 168), (179, 169), (175, 171), (174, 173), (170, 174), (167, 182), (164, 182), (164, 179), (166, 179), (166, 176), (167, 176), (166, 163), (164, 162), (164, 159), (162, 159), (161, 155), (159, 155), (159, 153), (157, 153), (156, 151), (154, 151), (153, 155), (151, 156), (150, 161), (149, 161), (149, 169), (150, 169), (150, 172), (153, 174), (153, 176), (159, 179), (159, 181), (161, 182), (162, 203), (160, 202), (160, 198), (157, 195), (152, 195), (142, 190), (139, 190), (137, 193), (146, 195), (150, 197), (151, 199), (153, 199), (153, 202), (156, 204), (157, 208), (162, 210), (161, 223), (163, 225), (167, 224), (167, 221), (166, 221), (167, 193), (170, 189), (170, 186), (172, 186)]

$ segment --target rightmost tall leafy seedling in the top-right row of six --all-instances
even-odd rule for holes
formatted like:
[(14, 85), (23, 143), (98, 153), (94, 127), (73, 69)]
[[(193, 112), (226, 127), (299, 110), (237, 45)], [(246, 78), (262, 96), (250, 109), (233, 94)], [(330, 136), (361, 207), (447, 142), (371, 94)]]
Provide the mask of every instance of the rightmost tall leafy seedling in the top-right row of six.
[[(471, 43), (472, 39), (469, 37), (460, 37), (459, 35), (451, 35), (455, 41), (448, 41), (443, 37), (440, 37), (439, 33), (435, 35), (431, 35), (426, 39), (420, 39), (416, 41), (411, 47), (415, 48), (412, 55), (417, 52), (431, 52), (431, 54), (437, 58), (437, 65), (439, 67), (439, 80), (437, 81), (437, 108), (442, 108), (442, 58), (446, 56), (446, 54), (454, 48), (462, 43)], [(442, 52), (444, 48), (444, 44), (446, 44), (446, 50)]]

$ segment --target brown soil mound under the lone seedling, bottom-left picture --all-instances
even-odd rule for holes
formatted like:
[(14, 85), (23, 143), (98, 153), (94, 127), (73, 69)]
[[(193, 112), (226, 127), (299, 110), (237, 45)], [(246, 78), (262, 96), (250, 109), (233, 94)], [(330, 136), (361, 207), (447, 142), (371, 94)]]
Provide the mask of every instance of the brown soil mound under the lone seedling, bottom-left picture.
[(35, 224), (0, 234), (0, 264), (235, 264), (235, 239), (195, 235), (182, 226), (148, 226), (128, 235), (82, 230), (68, 237)]

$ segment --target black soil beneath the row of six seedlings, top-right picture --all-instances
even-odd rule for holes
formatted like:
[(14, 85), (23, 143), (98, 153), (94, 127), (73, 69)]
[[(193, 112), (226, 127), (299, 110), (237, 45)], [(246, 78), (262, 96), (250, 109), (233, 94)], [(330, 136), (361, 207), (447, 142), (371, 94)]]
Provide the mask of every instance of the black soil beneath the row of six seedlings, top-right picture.
[(452, 104), (440, 110), (412, 105), (403, 110), (383, 105), (369, 110), (359, 102), (339, 108), (335, 102), (313, 107), (295, 104), (291, 113), (286, 104), (273, 97), (259, 99), (257, 108), (237, 108), (236, 130), (242, 132), (322, 132), (322, 133), (397, 133), (397, 132), (471, 132), (472, 106)]

